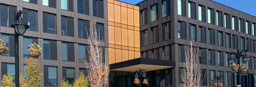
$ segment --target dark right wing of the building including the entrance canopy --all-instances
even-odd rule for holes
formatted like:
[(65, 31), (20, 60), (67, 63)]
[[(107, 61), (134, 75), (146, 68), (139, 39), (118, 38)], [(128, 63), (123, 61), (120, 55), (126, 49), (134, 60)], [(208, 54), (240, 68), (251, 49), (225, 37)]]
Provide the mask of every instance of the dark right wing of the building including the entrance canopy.
[(256, 17), (211, 0), (144, 0), (137, 6), (141, 58), (111, 64), (111, 69), (116, 70), (110, 73), (111, 87), (134, 86), (134, 71), (139, 68), (145, 69), (149, 81), (142, 86), (181, 87), (184, 47), (189, 47), (190, 42), (205, 75), (202, 87), (213, 86), (217, 75), (222, 76), (224, 86), (237, 86), (238, 73), (230, 69), (228, 62), (230, 53), (237, 49), (247, 49), (251, 56), (248, 62), (241, 60), (248, 66), (248, 71), (241, 74), (241, 86), (254, 86)]

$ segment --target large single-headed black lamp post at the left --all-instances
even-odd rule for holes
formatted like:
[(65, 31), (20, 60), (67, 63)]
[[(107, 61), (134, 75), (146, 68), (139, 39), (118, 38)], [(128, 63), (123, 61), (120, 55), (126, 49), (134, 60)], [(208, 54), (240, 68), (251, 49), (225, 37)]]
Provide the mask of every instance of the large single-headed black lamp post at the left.
[(14, 42), (15, 42), (15, 87), (19, 87), (19, 76), (20, 76), (20, 72), (19, 72), (19, 36), (20, 35), (23, 35), (26, 30), (28, 28), (30, 28), (29, 25), (27, 25), (27, 23), (25, 23), (23, 20), (22, 20), (22, 17), (21, 17), (21, 13), (22, 11), (19, 10), (18, 12), (15, 11), (15, 22), (11, 25), (12, 28), (14, 28), (15, 32), (14, 32)]

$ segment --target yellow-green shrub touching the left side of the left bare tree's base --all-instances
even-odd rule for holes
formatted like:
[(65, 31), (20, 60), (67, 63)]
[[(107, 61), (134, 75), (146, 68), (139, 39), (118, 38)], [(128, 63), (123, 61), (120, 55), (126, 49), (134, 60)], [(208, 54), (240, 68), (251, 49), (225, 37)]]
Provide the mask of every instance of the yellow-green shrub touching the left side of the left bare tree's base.
[(83, 73), (79, 74), (79, 78), (75, 80), (74, 87), (88, 87), (88, 79)]

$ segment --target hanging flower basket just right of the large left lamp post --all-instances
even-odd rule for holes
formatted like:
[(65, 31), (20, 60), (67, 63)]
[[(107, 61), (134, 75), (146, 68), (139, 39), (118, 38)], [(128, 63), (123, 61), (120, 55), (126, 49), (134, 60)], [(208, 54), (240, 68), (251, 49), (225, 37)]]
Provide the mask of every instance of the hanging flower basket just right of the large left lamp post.
[(30, 57), (38, 57), (42, 52), (42, 48), (37, 43), (30, 44), (27, 48)]

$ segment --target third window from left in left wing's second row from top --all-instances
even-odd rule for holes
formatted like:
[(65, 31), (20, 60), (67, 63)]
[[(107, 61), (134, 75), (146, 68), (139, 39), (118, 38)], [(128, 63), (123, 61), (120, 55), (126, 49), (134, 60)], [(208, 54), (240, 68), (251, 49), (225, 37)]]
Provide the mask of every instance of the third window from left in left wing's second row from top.
[(55, 15), (47, 13), (47, 33), (53, 33), (56, 32), (56, 18)]

